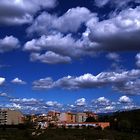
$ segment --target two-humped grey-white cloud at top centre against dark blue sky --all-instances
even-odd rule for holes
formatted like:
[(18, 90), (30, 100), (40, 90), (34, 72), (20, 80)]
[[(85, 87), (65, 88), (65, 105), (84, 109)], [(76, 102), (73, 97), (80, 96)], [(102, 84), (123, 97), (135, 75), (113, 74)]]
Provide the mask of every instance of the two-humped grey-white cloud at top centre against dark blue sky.
[(39, 34), (46, 34), (55, 30), (63, 33), (77, 32), (83, 23), (94, 16), (85, 7), (69, 9), (60, 17), (43, 12), (35, 19), (34, 23), (27, 29), (27, 32), (37, 32)]

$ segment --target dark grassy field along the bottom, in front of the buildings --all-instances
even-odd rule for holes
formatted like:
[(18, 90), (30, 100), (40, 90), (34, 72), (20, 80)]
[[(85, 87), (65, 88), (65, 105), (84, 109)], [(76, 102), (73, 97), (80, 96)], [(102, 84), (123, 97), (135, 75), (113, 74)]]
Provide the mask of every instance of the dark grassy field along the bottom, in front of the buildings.
[(140, 140), (140, 135), (94, 129), (0, 129), (0, 140)]

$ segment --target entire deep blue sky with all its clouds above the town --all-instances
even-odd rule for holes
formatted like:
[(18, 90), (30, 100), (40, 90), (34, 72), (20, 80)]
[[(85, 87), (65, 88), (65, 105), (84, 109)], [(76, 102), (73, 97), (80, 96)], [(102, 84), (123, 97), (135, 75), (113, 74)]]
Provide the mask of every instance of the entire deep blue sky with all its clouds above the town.
[(111, 112), (140, 106), (139, 0), (2, 0), (0, 107)]

